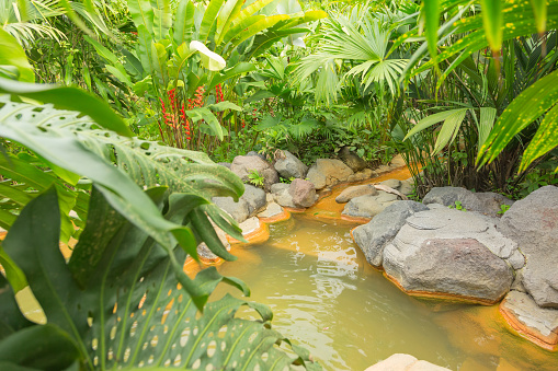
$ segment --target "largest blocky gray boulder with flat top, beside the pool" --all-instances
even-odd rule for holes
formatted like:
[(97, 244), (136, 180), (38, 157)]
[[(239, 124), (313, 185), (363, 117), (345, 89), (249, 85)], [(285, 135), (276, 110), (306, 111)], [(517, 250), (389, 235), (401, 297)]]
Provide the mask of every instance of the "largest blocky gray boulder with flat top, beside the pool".
[(384, 269), (405, 290), (497, 302), (509, 290), (517, 245), (494, 219), (455, 209), (420, 211), (384, 248)]

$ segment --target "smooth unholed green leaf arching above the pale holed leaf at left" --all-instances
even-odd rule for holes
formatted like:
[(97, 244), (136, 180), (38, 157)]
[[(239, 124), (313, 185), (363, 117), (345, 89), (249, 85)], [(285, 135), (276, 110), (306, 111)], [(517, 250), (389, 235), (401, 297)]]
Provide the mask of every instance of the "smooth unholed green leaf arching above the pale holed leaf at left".
[(78, 111), (93, 118), (100, 126), (123, 136), (133, 132), (112, 108), (96, 96), (77, 88), (52, 84), (32, 84), (0, 78), (0, 93), (15, 94), (44, 103), (53, 103), (57, 108)]

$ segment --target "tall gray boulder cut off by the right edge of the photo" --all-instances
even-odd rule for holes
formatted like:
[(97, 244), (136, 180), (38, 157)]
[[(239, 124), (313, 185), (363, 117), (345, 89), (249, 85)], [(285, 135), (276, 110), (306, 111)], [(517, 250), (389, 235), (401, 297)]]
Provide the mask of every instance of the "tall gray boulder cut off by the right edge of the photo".
[(523, 286), (539, 306), (558, 309), (558, 187), (546, 186), (516, 201), (498, 230), (526, 257)]

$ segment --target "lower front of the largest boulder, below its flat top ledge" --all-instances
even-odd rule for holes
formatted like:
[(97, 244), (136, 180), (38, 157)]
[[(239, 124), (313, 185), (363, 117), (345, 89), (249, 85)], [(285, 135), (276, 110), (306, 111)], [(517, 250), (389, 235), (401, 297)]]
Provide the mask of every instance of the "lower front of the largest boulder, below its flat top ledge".
[[(499, 301), (510, 290), (511, 267), (479, 241), (429, 239), (420, 245), (403, 245), (401, 232), (394, 240), (399, 239), (398, 243), (384, 250), (384, 269), (405, 290), (489, 302)], [(402, 237), (408, 242), (408, 235)]]

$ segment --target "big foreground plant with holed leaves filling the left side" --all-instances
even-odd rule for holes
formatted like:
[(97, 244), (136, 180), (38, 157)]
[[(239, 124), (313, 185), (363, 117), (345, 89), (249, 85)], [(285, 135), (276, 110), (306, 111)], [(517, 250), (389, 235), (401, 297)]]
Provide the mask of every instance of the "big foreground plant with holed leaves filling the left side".
[[(0, 92), (8, 93), (0, 102), (0, 136), (34, 154), (11, 156), (2, 167), (4, 176), (24, 179), (2, 185), (3, 196), (20, 205), (0, 248), (9, 281), (0, 277), (2, 369), (319, 368), (304, 349), (293, 347), (298, 353), (293, 357), (275, 346), (289, 343), (270, 329), (264, 305), (228, 295), (205, 305), (221, 281), (248, 295), (241, 281), (215, 268), (195, 279), (182, 270), (186, 256), (197, 259), (202, 242), (234, 258), (208, 218), (242, 236), (208, 199), (238, 198), (243, 189), (238, 177), (202, 153), (129, 138), (105, 103), (78, 89), (1, 79)], [(50, 104), (18, 102), (22, 98)], [(38, 164), (35, 173), (25, 163), (30, 158)], [(48, 175), (30, 178), (37, 172)], [(66, 210), (59, 206), (67, 189), (60, 192), (60, 182), (68, 187), (80, 179), (92, 183), (81, 193), (86, 227), (66, 262), (59, 251)], [(255, 309), (262, 321), (235, 318), (241, 305)], [(38, 312), (37, 324), (20, 308)]]

